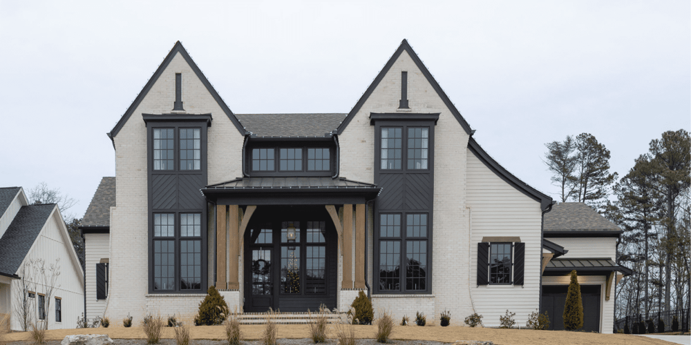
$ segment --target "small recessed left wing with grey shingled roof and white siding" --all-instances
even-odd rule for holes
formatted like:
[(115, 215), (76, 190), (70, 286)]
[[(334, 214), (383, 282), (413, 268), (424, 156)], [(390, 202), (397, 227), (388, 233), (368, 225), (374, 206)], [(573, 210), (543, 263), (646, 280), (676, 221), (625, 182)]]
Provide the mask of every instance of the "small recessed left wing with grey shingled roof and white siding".
[(84, 317), (103, 317), (108, 297), (111, 207), (115, 206), (115, 177), (101, 179), (86, 208), (79, 230), (84, 235)]

